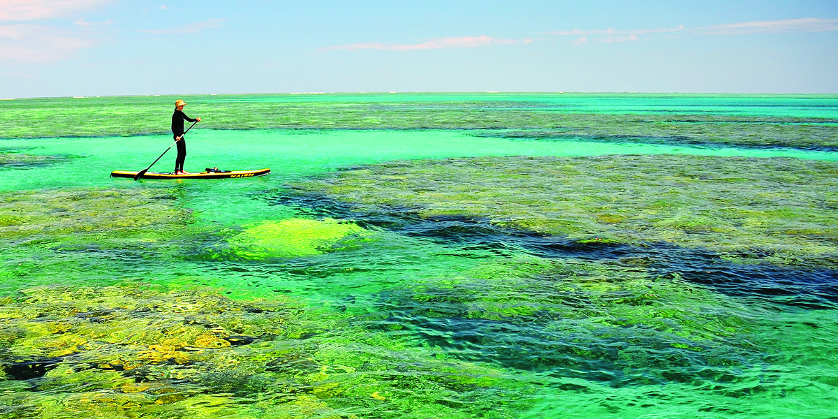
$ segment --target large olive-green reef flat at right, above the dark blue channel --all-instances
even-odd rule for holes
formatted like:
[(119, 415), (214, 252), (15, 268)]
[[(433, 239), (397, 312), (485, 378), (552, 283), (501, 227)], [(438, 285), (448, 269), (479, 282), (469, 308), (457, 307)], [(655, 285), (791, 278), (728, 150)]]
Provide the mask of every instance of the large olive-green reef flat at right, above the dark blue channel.
[[(731, 261), (838, 266), (838, 163), (614, 155), (381, 163), (293, 185), (360, 211), (471, 216), (580, 244), (660, 243)], [(395, 211), (395, 209), (394, 209)]]

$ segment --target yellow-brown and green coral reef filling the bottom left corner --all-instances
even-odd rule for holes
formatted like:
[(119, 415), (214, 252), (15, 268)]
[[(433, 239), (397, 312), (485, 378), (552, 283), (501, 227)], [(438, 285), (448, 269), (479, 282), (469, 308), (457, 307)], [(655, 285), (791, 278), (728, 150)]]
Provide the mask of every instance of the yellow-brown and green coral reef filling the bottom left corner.
[(0, 349), (14, 417), (505, 418), (523, 405), (503, 392), (525, 389), (292, 299), (147, 284), (5, 297)]

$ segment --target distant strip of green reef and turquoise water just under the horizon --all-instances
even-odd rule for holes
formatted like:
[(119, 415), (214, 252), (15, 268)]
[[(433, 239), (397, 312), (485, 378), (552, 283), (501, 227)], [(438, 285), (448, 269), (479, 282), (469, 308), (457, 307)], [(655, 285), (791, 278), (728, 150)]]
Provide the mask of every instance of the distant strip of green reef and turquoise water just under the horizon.
[(365, 94), (45, 98), (0, 102), (3, 137), (167, 133), (186, 99), (213, 129), (459, 129), (478, 136), (838, 149), (835, 96)]

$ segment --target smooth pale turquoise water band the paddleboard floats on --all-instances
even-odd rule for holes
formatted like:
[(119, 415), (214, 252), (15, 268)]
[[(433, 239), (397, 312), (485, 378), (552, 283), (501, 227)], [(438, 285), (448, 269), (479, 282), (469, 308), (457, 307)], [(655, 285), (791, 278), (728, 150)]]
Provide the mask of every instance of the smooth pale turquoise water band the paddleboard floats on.
[[(131, 143), (127, 149), (126, 142)], [(79, 156), (60, 165), (10, 171), (0, 188), (42, 189), (72, 186), (132, 184), (124, 179), (102, 178), (103, 168), (142, 169), (171, 142), (168, 136), (100, 138), (49, 138), (3, 140), (3, 147), (29, 149), (30, 153)], [(504, 138), (473, 137), (462, 131), (195, 131), (189, 136), (189, 165), (206, 167), (272, 169), (269, 178), (254, 179), (267, 187), (280, 187), (299, 177), (333, 171), (356, 164), (406, 158), (467, 156), (596, 156), (603, 154), (685, 153), (696, 155), (794, 157), (835, 161), (838, 153), (773, 147), (690, 147), (643, 142), (527, 142)], [(172, 155), (169, 155), (172, 154)], [(176, 151), (169, 150), (152, 171), (168, 172)], [(106, 170), (110, 173), (109, 170)], [(73, 175), (70, 176), (70, 173)], [(183, 181), (191, 182), (191, 181)], [(230, 182), (221, 183), (225, 187)], [(199, 183), (202, 184), (202, 183)]]

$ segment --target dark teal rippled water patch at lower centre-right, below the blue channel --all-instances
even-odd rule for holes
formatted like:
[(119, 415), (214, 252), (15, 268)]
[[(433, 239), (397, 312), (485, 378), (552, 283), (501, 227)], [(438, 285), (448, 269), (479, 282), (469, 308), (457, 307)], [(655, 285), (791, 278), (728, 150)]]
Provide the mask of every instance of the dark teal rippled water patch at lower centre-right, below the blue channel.
[(585, 320), (562, 318), (561, 313), (592, 309), (589, 302), (565, 304), (572, 296), (556, 296), (549, 307), (551, 316), (495, 320), (475, 317), (467, 294), (443, 289), (410, 292), (382, 292), (380, 318), (368, 318), (369, 327), (401, 330), (463, 360), (613, 387), (709, 382), (720, 389), (735, 387), (739, 371), (762, 363), (763, 353), (747, 339), (696, 343), (639, 323), (592, 328)]

